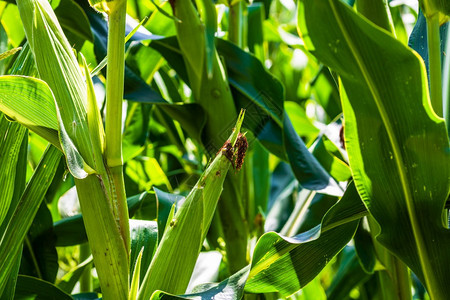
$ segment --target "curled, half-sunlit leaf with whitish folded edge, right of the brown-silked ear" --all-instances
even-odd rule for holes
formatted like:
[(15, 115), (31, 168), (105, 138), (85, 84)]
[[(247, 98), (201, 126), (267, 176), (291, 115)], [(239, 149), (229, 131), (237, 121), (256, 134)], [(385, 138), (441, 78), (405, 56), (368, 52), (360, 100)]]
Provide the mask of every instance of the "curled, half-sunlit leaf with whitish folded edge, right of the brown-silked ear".
[[(286, 297), (306, 286), (353, 237), (359, 218), (354, 211), (361, 205), (351, 184), (320, 225), (294, 237), (264, 234), (253, 252), (245, 291), (279, 292)], [(349, 222), (348, 216), (353, 221)]]

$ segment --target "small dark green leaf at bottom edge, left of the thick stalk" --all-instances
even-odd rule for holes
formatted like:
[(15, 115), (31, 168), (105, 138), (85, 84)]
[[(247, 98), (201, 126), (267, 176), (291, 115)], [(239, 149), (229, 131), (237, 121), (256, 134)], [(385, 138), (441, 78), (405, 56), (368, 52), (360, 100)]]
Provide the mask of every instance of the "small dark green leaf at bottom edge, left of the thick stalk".
[(70, 295), (64, 293), (55, 285), (48, 281), (44, 281), (35, 277), (19, 275), (17, 280), (16, 294), (14, 299), (27, 300), (27, 299), (60, 299), (60, 300), (72, 300)]

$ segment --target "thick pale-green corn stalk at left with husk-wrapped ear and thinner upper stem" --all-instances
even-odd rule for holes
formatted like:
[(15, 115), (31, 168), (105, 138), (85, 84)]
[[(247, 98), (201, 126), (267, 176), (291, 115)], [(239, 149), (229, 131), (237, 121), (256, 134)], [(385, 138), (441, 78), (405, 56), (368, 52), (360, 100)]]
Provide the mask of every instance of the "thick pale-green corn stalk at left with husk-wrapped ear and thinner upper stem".
[[(120, 60), (122, 52), (122, 63), (113, 66), (115, 76), (107, 79), (109, 107), (122, 101), (125, 3), (109, 3), (112, 45), (117, 46), (110, 55)], [(114, 129), (105, 141), (89, 70), (82, 55), (77, 60), (51, 6), (45, 0), (18, 0), (17, 5), (39, 76), (56, 99), (59, 142), (75, 177), (103, 297), (126, 299), (130, 246), (121, 174), (121, 110), (115, 115), (109, 110), (107, 129)]]

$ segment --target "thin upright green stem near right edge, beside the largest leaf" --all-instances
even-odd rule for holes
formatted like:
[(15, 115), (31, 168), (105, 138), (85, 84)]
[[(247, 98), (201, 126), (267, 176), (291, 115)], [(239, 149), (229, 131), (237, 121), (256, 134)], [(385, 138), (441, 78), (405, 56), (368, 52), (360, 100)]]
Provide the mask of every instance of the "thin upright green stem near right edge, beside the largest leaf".
[(439, 15), (427, 18), (428, 57), (430, 70), (431, 104), (437, 115), (443, 115), (442, 108), (442, 73), (441, 42), (439, 35)]

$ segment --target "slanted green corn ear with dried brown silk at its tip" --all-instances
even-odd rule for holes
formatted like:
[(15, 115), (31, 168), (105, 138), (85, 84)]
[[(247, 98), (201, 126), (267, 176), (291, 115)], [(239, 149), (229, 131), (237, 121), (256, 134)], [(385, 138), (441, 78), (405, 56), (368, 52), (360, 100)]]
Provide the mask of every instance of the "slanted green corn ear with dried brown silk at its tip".
[(235, 146), (243, 116), (241, 112), (233, 134), (169, 220), (138, 299), (149, 299), (156, 290), (185, 292), (232, 164), (232, 153), (239, 150)]

